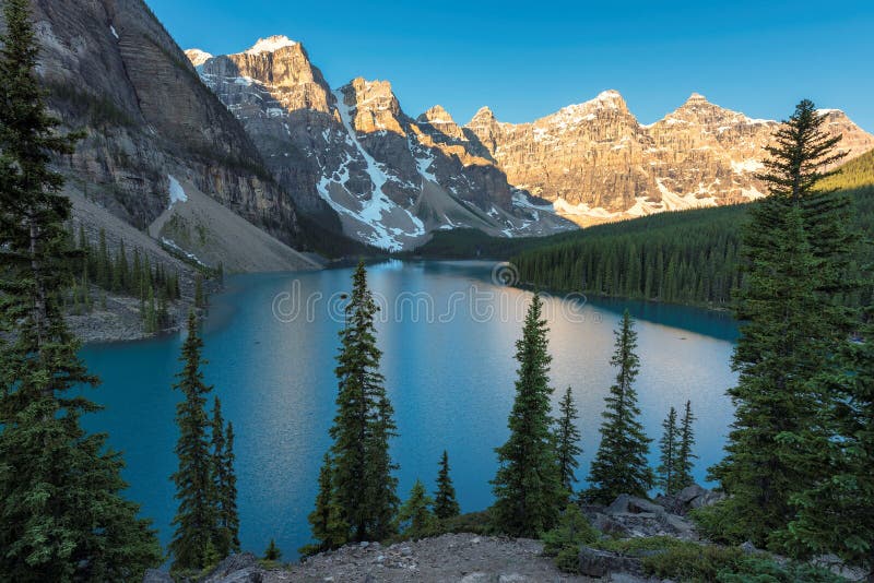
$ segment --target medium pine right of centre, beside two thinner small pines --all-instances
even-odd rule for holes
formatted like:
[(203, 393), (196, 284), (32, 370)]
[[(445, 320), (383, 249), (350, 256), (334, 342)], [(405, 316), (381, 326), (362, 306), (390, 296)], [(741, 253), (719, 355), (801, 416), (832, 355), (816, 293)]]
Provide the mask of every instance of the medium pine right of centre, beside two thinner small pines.
[(653, 475), (647, 464), (650, 439), (638, 420), (637, 391), (634, 381), (639, 370), (635, 354), (637, 333), (628, 310), (616, 331), (616, 352), (611, 365), (618, 367), (616, 383), (604, 400), (606, 411), (601, 414), (601, 444), (592, 462), (584, 497), (593, 502), (609, 504), (621, 493), (646, 497), (652, 487)]

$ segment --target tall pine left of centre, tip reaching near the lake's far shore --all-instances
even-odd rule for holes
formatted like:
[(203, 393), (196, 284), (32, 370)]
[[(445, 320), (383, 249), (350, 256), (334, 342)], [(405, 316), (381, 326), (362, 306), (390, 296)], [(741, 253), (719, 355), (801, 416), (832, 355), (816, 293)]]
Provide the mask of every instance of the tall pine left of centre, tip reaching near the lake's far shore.
[[(378, 308), (367, 288), (364, 262), (358, 263), (352, 279), (345, 325), (340, 332), (338, 411), (330, 430), (333, 445), (330, 478), (326, 479), (331, 483), (330, 505), (340, 510), (336, 523), (349, 527), (343, 538), (379, 540), (394, 532), (398, 479), (392, 475), (397, 465), (389, 454), (389, 440), (397, 427), (379, 372), (382, 353), (376, 345), (374, 325)], [(318, 539), (315, 530), (314, 536)], [(319, 539), (319, 545), (324, 543)]]

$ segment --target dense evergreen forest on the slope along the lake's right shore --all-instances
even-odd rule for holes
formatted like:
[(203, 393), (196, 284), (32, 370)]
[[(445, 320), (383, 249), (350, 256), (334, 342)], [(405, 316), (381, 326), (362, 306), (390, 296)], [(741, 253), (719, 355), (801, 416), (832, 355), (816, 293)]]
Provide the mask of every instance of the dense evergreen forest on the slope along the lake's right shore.
[[(857, 160), (846, 165), (846, 171), (855, 172), (848, 175), (852, 179), (842, 182), (841, 174), (831, 180), (853, 187), (874, 185), (874, 168), (870, 162), (863, 165), (865, 159), (860, 160), (858, 170)], [(874, 236), (874, 187), (860, 187), (849, 194), (854, 211), (848, 219), (866, 236)], [(741, 228), (759, 204), (661, 213), (590, 227), (574, 237), (563, 237), (559, 243), (532, 242), (531, 249), (511, 261), (521, 283), (530, 286), (729, 307), (734, 291), (745, 285)], [(870, 247), (859, 248), (848, 273), (873, 260)], [(847, 301), (859, 306), (870, 302), (871, 297), (871, 285), (847, 291)]]

